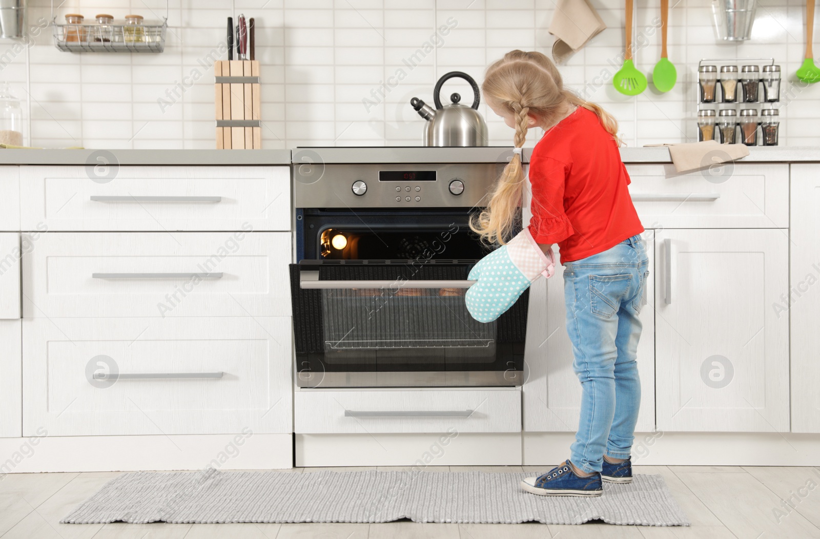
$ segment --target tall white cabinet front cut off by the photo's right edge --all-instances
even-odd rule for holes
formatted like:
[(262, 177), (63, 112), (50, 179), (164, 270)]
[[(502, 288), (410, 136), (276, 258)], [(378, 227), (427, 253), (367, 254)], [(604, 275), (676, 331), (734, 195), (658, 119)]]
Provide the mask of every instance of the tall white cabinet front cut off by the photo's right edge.
[[(791, 430), (820, 433), (820, 165), (791, 165)], [(788, 310), (786, 310), (788, 309)]]

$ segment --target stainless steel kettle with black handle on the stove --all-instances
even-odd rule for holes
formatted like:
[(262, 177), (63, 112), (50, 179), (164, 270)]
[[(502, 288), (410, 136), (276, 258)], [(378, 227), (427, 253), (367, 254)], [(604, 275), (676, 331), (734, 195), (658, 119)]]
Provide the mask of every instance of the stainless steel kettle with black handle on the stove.
[[(472, 106), (462, 105), (461, 96), (453, 93), (450, 96), (451, 104), (441, 106), (440, 92), (444, 82), (453, 77), (467, 80), (472, 86), (473, 100)], [(461, 71), (450, 71), (435, 83), (433, 89), (433, 110), (418, 97), (413, 97), (410, 104), (418, 115), (427, 120), (425, 125), (422, 143), (424, 146), (487, 146), (487, 124), (478, 111), (478, 103), (481, 94), (478, 91), (478, 84), (467, 73)]]

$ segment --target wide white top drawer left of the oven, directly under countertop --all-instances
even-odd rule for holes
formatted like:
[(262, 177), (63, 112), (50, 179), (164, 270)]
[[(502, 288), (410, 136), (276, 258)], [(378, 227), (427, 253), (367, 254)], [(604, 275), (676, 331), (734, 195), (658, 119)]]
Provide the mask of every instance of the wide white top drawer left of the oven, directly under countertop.
[(290, 229), (287, 166), (21, 168), (23, 230)]

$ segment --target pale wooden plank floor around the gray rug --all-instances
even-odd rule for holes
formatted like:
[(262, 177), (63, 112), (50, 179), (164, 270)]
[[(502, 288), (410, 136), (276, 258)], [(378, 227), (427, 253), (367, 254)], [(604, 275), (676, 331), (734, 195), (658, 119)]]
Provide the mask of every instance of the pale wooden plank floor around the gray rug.
[[(434, 468), (434, 467), (430, 467)], [(335, 468), (351, 470), (352, 468)], [(364, 468), (356, 468), (364, 469)], [(372, 469), (372, 468), (371, 468)], [(402, 468), (378, 468), (402, 469)], [(311, 473), (317, 468), (294, 469)], [(451, 466), (434, 471), (544, 472), (529, 466)], [(763, 539), (820, 537), (820, 470), (698, 466), (636, 466), (660, 473), (689, 516), (690, 528), (587, 523), (525, 524), (60, 524), (75, 505), (118, 473), (10, 473), (0, 476), (2, 539), (544, 539), (657, 537)], [(792, 509), (783, 503), (790, 499)]]

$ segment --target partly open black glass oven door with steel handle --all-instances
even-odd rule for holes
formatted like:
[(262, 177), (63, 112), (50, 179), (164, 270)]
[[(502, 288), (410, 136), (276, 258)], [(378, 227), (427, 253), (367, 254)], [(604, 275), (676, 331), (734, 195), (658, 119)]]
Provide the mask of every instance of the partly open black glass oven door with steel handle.
[(476, 260), (290, 265), (299, 387), (515, 386), (528, 293), (482, 324), (464, 303)]

